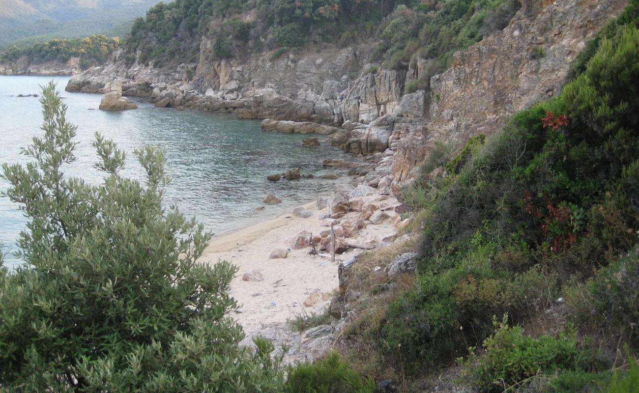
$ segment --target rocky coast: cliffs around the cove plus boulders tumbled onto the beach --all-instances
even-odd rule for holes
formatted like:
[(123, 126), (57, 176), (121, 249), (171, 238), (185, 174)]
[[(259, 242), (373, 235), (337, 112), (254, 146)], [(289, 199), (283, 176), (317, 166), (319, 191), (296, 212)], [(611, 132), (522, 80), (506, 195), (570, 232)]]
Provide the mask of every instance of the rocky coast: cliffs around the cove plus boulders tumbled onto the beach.
[[(350, 183), (336, 186), (332, 196), (319, 198), (314, 210), (298, 210), (298, 215), (308, 217), (291, 212), (304, 220), (304, 229), (298, 227), (293, 235), (269, 235), (269, 244), (281, 247), (261, 251), (282, 255), (286, 250), (287, 256), (293, 251), (299, 260), (322, 258), (305, 254), (326, 251), (334, 241), (343, 251), (340, 255), (349, 256), (332, 266), (341, 275), (363, 250), (406, 241), (403, 229), (411, 218), (402, 190), (417, 177), (420, 164), (436, 143), (459, 150), (469, 137), (494, 134), (514, 112), (560, 93), (571, 61), (627, 2), (524, 3), (503, 31), (457, 52), (452, 65), (432, 77), (427, 74), (427, 61), (411, 63), (407, 70), (374, 69), (372, 45), (288, 54), (275, 60), (263, 54), (229, 61), (214, 59), (212, 43), (203, 38), (197, 64), (180, 65), (171, 72), (137, 63), (128, 66), (119, 50), (109, 64), (73, 76), (66, 90), (107, 93), (116, 82), (122, 95), (146, 96), (158, 107), (261, 118), (265, 132), (319, 135), (357, 156), (357, 163), (327, 158), (324, 165), (343, 170), (351, 176)], [(532, 56), (539, 53), (543, 56)], [(186, 70), (193, 67), (189, 80)], [(410, 82), (425, 77), (429, 77), (427, 89), (406, 90)], [(327, 233), (330, 224), (336, 230), (335, 239)], [(326, 229), (318, 231), (318, 226)], [(237, 253), (234, 244), (230, 250), (210, 250), (207, 258), (214, 261)], [(404, 259), (397, 262), (396, 270), (410, 268), (410, 258)], [(268, 259), (263, 263), (269, 263)], [(250, 281), (252, 276), (247, 277)], [(305, 347), (313, 354), (318, 353), (316, 348), (330, 347), (348, 318), (348, 311), (333, 310), (327, 300), (317, 303), (328, 307), (336, 319), (300, 336), (302, 341), (321, 343)], [(281, 330), (282, 323), (273, 321), (273, 332)]]

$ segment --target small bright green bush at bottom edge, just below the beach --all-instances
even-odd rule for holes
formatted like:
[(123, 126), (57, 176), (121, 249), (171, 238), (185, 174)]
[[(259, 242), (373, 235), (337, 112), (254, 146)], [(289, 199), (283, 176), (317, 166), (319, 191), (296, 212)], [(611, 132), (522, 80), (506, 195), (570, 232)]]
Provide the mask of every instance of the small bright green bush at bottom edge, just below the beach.
[(298, 364), (288, 369), (288, 393), (373, 393), (373, 380), (362, 381), (357, 371), (339, 360), (336, 352), (314, 364)]

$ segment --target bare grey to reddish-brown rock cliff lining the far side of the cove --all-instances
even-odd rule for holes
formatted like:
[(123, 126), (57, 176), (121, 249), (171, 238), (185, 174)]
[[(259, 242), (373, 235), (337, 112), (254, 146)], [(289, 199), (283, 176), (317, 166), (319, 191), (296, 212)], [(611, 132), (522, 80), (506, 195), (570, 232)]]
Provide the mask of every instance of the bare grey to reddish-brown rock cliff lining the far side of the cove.
[(127, 66), (116, 52), (109, 65), (73, 77), (67, 89), (102, 93), (121, 80), (123, 95), (151, 96), (162, 107), (279, 120), (293, 132), (290, 121), (341, 127), (332, 128), (332, 144), (380, 162), (379, 173), (364, 181), (390, 174), (399, 187), (415, 176), (436, 141), (460, 148), (468, 137), (493, 134), (514, 112), (557, 95), (571, 61), (626, 4), (525, 1), (503, 31), (457, 52), (445, 72), (431, 77), (429, 89), (411, 94), (404, 86), (426, 75), (427, 61), (408, 70), (377, 70), (370, 64), (374, 45), (229, 61), (213, 59), (206, 38), (196, 65), (167, 73)]

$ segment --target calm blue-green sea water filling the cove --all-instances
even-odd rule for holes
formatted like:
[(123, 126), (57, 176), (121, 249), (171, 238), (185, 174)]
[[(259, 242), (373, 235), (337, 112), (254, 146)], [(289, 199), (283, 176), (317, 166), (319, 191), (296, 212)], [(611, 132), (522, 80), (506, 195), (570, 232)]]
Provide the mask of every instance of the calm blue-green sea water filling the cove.
[[(91, 143), (95, 132), (118, 143), (128, 152), (125, 175), (141, 178), (133, 150), (157, 144), (167, 150), (167, 172), (173, 181), (167, 188), (166, 203), (177, 204), (189, 216), (196, 216), (216, 234), (272, 217), (296, 204), (314, 199), (332, 188), (332, 182), (319, 179), (295, 181), (266, 180), (267, 174), (299, 167), (302, 174), (326, 173), (321, 162), (327, 157), (347, 157), (345, 153), (321, 146), (303, 148), (305, 135), (262, 132), (259, 120), (239, 120), (229, 114), (158, 109), (139, 103), (139, 109), (125, 112), (98, 111), (100, 95), (67, 93), (68, 77), (0, 76), (0, 164), (26, 162), (20, 148), (42, 135), (42, 114), (38, 98), (17, 95), (39, 94), (39, 86), (51, 80), (68, 105), (67, 118), (78, 125), (78, 157), (68, 167), (69, 176), (82, 176), (99, 183), (102, 174), (93, 169), (96, 162)], [(6, 190), (0, 179), (0, 191)], [(272, 192), (282, 204), (262, 206), (261, 199)], [(9, 249), (6, 265), (19, 263), (12, 255), (15, 240), (26, 219), (17, 205), (0, 197), (0, 242)]]

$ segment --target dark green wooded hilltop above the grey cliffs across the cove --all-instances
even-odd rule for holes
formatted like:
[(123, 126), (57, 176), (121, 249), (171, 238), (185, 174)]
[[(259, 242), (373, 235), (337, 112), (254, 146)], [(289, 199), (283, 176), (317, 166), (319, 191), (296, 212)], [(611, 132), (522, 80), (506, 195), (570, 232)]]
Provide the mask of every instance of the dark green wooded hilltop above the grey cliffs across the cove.
[(128, 59), (155, 65), (197, 58), (201, 37), (217, 58), (325, 43), (380, 42), (375, 59), (402, 68), (417, 57), (442, 70), (455, 50), (503, 29), (517, 0), (176, 0), (135, 20)]

